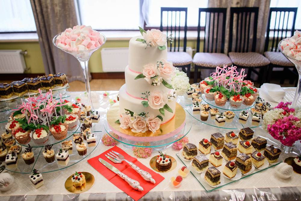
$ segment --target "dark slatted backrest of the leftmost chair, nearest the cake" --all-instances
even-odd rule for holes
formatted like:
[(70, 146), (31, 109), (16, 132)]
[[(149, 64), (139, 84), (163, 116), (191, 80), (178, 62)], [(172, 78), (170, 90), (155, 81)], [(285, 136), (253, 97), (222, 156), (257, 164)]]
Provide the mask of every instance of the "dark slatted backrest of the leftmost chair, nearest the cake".
[[(163, 12), (167, 13), (167, 17), (166, 17), (167, 21), (166, 21), (166, 26), (164, 26), (164, 29), (163, 29)], [(181, 19), (181, 12), (185, 12), (185, 18), (184, 19)], [(170, 16), (169, 16), (169, 14), (170, 14)], [(185, 23), (182, 23), (181, 20), (185, 20)], [(183, 24), (184, 24), (184, 26), (183, 26)], [(170, 52), (180, 51), (180, 42), (181, 42), (180, 41), (180, 34), (181, 34), (181, 31), (184, 31), (183, 51), (186, 52), (186, 45), (187, 45), (187, 8), (161, 7), (160, 30), (161, 31), (166, 30), (166, 35), (167, 36), (169, 36), (169, 34), (172, 33), (172, 36), (174, 37), (173, 43), (169, 46), (169, 51)]]

